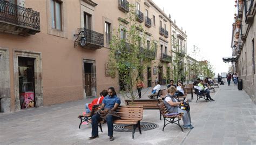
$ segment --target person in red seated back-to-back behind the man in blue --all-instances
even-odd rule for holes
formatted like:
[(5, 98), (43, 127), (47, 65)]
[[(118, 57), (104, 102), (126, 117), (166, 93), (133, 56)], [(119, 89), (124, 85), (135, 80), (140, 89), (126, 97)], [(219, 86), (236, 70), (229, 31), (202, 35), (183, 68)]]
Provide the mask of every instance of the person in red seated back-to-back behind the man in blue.
[[(107, 95), (106, 89), (104, 89), (102, 92), (100, 92), (99, 95), (100, 95), (99, 98), (93, 99), (91, 103), (86, 103), (86, 104), (85, 104), (85, 112), (84, 112), (84, 114), (85, 114), (85, 113), (90, 113), (91, 110), (92, 110), (92, 106), (93, 106), (93, 105), (97, 105), (97, 104), (102, 103), (104, 97)], [(88, 125), (88, 122), (87, 122), (87, 121), (84, 121), (84, 122), (82, 123), (82, 125)]]

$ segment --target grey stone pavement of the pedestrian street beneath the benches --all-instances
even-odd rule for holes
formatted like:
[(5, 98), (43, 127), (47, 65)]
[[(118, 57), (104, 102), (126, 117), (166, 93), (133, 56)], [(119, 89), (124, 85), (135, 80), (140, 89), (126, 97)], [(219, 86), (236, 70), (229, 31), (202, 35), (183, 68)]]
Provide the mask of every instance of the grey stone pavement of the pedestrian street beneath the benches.
[[(143, 89), (143, 99), (151, 89)], [(190, 102), (194, 129), (184, 129), (184, 133), (171, 124), (162, 132), (164, 121), (159, 120), (159, 111), (145, 110), (143, 122), (156, 123), (156, 129), (141, 135), (136, 132), (134, 140), (132, 133), (114, 132), (115, 140), (109, 141), (107, 126), (103, 125), (99, 138), (89, 140), (91, 126), (78, 129), (77, 116), (92, 98), (1, 113), (0, 144), (256, 144), (256, 106), (250, 97), (233, 84), (215, 89), (217, 92), (211, 93), (215, 101), (193, 99)]]

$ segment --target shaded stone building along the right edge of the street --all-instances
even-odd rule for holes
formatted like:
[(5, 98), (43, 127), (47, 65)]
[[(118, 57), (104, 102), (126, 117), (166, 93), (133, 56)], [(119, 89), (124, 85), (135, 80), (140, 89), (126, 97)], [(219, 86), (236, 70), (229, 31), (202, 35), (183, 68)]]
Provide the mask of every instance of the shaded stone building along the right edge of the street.
[(233, 70), (242, 79), (242, 87), (256, 103), (256, 75), (255, 75), (255, 16), (256, 1), (239, 0), (237, 13), (233, 23), (232, 35), (232, 63)]

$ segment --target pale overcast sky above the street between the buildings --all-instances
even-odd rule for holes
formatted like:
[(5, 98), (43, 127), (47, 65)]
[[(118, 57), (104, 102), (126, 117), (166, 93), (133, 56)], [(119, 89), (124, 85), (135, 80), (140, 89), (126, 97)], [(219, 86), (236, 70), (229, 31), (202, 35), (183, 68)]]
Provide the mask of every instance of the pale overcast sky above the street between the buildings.
[[(215, 74), (227, 72), (231, 63), (223, 57), (232, 56), (231, 38), (234, 22), (234, 1), (210, 0), (153, 0), (176, 25), (187, 34), (188, 54), (196, 45), (200, 49), (197, 60), (208, 60)], [(221, 2), (221, 3), (220, 3)], [(191, 57), (193, 57), (191, 55)]]

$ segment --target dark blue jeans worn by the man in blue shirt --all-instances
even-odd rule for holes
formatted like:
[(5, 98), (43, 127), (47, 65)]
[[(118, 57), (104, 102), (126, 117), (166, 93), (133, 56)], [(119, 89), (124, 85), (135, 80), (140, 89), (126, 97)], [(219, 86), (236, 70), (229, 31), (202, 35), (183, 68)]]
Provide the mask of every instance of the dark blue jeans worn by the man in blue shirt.
[[(98, 136), (99, 131), (98, 131), (98, 122), (100, 120), (100, 115), (95, 114), (92, 116), (92, 136)], [(106, 117), (106, 122), (107, 122), (107, 135), (113, 136), (113, 116), (112, 115), (107, 115)]]

